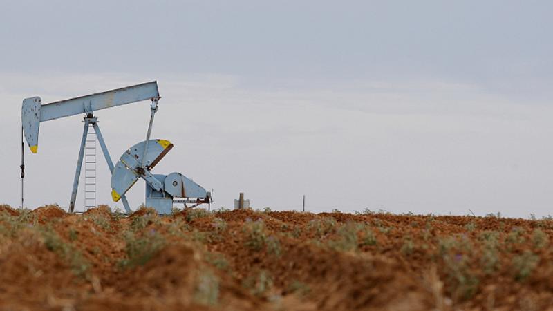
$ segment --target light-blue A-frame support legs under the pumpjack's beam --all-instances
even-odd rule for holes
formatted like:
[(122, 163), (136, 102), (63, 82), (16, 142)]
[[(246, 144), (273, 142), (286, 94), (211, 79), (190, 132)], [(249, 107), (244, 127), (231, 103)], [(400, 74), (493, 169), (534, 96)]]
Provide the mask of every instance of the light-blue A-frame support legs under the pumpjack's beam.
[[(84, 147), (86, 144), (86, 136), (88, 133), (89, 124), (92, 124), (94, 128), (96, 137), (98, 139), (98, 142), (100, 143), (100, 147), (102, 147), (104, 158), (106, 159), (106, 162), (108, 164), (109, 171), (110, 173), (113, 172), (113, 162), (111, 162), (111, 157), (109, 156), (106, 143), (104, 142), (104, 138), (102, 136), (102, 133), (100, 132), (100, 126), (98, 126), (97, 121), (98, 121), (97, 117), (94, 117), (91, 111), (87, 111), (86, 117), (84, 117), (84, 131), (82, 133), (81, 149), (79, 150), (79, 158), (77, 160), (77, 169), (75, 170), (75, 179), (73, 180), (73, 191), (71, 191), (71, 200), (69, 201), (70, 213), (73, 213), (73, 211), (75, 211), (75, 200), (77, 200), (77, 190), (79, 189), (79, 179), (81, 176), (82, 159), (84, 157)], [(123, 206), (126, 213), (131, 213), (131, 207), (129, 207), (129, 201), (126, 200), (126, 197), (122, 196), (121, 200), (123, 202)]]

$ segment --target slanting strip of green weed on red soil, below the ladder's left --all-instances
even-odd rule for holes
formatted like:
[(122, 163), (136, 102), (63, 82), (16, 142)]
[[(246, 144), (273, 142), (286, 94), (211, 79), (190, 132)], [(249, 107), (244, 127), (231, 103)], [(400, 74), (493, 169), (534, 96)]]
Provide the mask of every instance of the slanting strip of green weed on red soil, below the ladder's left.
[(62, 257), (64, 261), (67, 261), (73, 273), (77, 274), (77, 276), (87, 275), (90, 264), (86, 261), (84, 256), (82, 256), (81, 252), (73, 245), (65, 243), (53, 229), (41, 229), (41, 234), (44, 238), (44, 245), (46, 248)]

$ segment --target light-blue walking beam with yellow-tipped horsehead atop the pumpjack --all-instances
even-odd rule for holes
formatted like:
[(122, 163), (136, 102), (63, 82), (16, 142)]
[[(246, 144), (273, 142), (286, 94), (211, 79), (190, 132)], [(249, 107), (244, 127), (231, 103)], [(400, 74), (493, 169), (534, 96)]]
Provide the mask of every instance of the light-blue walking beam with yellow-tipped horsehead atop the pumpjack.
[(44, 105), (41, 104), (40, 97), (30, 97), (23, 100), (23, 106), (21, 106), (21, 124), (23, 124), (25, 139), (30, 150), (32, 153), (37, 153), (40, 122), (140, 102), (142, 100), (158, 99), (159, 96), (158, 83), (153, 81)]

